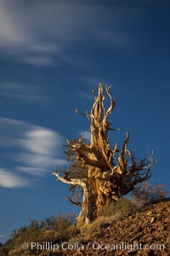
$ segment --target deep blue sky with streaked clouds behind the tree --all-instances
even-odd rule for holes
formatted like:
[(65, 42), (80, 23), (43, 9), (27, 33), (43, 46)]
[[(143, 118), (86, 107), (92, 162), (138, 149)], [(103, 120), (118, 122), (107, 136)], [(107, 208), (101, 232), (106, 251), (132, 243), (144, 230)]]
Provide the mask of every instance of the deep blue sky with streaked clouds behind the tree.
[(11, 231), (80, 209), (55, 182), (62, 144), (88, 119), (91, 91), (112, 84), (111, 143), (155, 150), (150, 182), (169, 184), (169, 1), (2, 0), (0, 2), (0, 241)]

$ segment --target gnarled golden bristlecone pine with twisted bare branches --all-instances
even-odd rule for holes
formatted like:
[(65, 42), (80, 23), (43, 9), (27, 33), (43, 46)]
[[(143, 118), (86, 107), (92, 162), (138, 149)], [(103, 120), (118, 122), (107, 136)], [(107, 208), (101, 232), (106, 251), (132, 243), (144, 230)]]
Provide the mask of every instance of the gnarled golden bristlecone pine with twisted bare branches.
[[(110, 89), (111, 86), (105, 86), (110, 100), (108, 109), (105, 108), (103, 86), (99, 84), (98, 96), (93, 91), (91, 113), (82, 113), (90, 121), (90, 143), (86, 143), (82, 137), (73, 141), (67, 139), (66, 154), (70, 155), (71, 166), (66, 171), (57, 171), (55, 168), (54, 172), (61, 182), (82, 188), (82, 202), (67, 197), (71, 203), (82, 207), (77, 224), (94, 221), (107, 202), (119, 200), (132, 191), (137, 183), (144, 182), (151, 175), (153, 154), (150, 157), (145, 154), (143, 160), (137, 160), (133, 151), (127, 150), (128, 132), (122, 148), (118, 148), (117, 143), (114, 148), (110, 146), (108, 131), (116, 130), (111, 128), (108, 121), (115, 107)], [(78, 110), (76, 112), (81, 113)]]

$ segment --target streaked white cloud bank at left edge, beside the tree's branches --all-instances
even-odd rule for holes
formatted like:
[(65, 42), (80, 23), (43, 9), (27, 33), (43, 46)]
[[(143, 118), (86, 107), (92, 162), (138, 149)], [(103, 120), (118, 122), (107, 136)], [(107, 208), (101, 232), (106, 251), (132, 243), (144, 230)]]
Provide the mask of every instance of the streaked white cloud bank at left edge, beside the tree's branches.
[[(2, 187), (28, 186), (32, 177), (52, 173), (55, 164), (67, 164), (62, 159), (63, 137), (45, 127), (0, 118), (0, 141)], [(8, 166), (4, 167), (7, 162)], [(26, 174), (29, 175), (27, 182)]]

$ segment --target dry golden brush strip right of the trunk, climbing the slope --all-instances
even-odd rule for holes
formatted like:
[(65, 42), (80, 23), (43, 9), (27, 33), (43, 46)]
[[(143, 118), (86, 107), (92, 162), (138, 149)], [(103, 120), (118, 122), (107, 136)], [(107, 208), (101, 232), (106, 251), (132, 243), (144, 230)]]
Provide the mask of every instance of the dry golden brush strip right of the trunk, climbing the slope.
[(144, 182), (133, 190), (128, 198), (121, 198), (118, 201), (111, 201), (100, 211), (100, 217), (91, 224), (84, 224), (80, 227), (81, 233), (71, 237), (73, 241), (89, 241), (101, 234), (103, 227), (112, 222), (117, 222), (144, 209), (146, 205), (163, 201), (169, 194), (165, 185), (156, 184), (153, 188), (150, 183)]

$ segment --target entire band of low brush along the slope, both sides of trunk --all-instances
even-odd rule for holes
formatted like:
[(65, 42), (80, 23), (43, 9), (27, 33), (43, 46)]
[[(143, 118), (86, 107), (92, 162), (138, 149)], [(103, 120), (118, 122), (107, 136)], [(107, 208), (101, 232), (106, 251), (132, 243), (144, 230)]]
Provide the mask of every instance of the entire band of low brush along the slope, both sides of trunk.
[[(59, 214), (45, 218), (42, 221), (30, 219), (28, 226), (20, 227), (14, 230), (11, 238), (0, 247), (1, 256), (30, 256), (40, 255), (36, 250), (21, 250), (22, 242), (31, 244), (31, 241), (49, 241), (53, 244), (62, 241), (93, 241), (97, 237), (102, 237), (102, 230), (111, 223), (117, 223), (129, 216), (144, 210), (146, 205), (163, 201), (169, 194), (165, 185), (156, 184), (153, 188), (148, 182), (141, 183), (140, 186), (133, 189), (133, 193), (128, 198), (122, 198), (118, 201), (111, 201), (100, 211), (99, 218), (96, 218), (91, 224), (83, 224), (79, 227), (75, 225), (76, 216), (74, 214)], [(43, 255), (50, 255), (46, 254)]]

